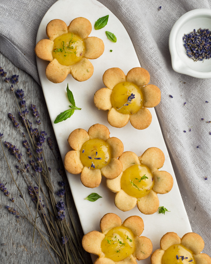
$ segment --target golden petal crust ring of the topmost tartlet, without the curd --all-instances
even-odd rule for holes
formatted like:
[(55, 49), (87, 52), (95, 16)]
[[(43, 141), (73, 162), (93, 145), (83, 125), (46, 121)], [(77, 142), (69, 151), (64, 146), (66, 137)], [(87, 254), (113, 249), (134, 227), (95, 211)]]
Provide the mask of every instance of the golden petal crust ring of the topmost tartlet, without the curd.
[[(54, 19), (49, 22), (46, 27), (46, 34), (49, 39), (39, 41), (35, 47), (36, 55), (50, 61), (46, 68), (46, 77), (54, 82), (60, 83), (68, 74), (71, 74), (74, 79), (84, 81), (89, 79), (94, 72), (94, 67), (88, 59), (96, 59), (104, 53), (104, 43), (97, 37), (88, 37), (91, 33), (92, 25), (86, 18), (76, 18), (69, 26), (60, 19)], [(53, 59), (54, 40), (68, 32), (79, 35), (85, 43), (85, 53), (83, 58), (70, 66), (60, 64), (56, 58)]]

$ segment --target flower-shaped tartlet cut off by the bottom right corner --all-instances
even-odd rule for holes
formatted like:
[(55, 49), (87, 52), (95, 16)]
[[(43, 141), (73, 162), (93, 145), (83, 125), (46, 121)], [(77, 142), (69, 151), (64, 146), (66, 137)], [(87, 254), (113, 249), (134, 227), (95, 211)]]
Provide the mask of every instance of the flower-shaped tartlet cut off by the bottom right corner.
[(211, 257), (200, 254), (205, 243), (196, 233), (180, 238), (176, 233), (166, 233), (160, 239), (160, 249), (153, 252), (152, 264), (211, 264)]

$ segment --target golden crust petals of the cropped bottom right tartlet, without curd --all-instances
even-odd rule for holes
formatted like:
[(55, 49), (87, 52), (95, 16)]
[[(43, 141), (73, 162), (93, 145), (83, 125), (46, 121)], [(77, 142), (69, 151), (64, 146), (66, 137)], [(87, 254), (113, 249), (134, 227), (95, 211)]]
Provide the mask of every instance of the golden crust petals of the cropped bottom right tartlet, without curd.
[[(211, 257), (200, 253), (204, 249), (204, 240), (196, 233), (187, 233), (180, 238), (176, 233), (166, 233), (160, 239), (160, 249), (153, 252), (151, 256), (152, 264), (162, 264), (162, 256), (170, 246), (181, 244), (192, 251), (196, 264), (211, 264)], [(175, 256), (176, 257), (176, 256)]]

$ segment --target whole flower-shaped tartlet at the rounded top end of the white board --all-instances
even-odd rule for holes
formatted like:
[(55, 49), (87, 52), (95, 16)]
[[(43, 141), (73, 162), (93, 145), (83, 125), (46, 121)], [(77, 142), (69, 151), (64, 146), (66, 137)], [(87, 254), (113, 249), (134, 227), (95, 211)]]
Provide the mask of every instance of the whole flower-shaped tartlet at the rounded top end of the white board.
[(86, 18), (75, 18), (70, 26), (60, 19), (54, 19), (46, 27), (49, 39), (40, 40), (36, 47), (36, 55), (50, 61), (46, 68), (47, 78), (54, 82), (62, 82), (68, 74), (74, 79), (89, 79), (94, 68), (88, 59), (96, 59), (104, 52), (104, 43), (100, 38), (88, 37), (92, 25)]

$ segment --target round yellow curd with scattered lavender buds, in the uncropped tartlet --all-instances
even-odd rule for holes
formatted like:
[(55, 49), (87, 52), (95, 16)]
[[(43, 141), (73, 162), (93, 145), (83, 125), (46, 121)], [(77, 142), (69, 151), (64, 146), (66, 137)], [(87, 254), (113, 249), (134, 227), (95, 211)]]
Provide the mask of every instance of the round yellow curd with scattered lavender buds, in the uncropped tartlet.
[(83, 143), (80, 161), (89, 169), (101, 169), (110, 162), (110, 146), (103, 139), (90, 139)]

